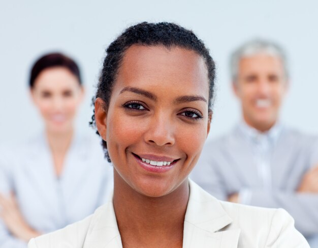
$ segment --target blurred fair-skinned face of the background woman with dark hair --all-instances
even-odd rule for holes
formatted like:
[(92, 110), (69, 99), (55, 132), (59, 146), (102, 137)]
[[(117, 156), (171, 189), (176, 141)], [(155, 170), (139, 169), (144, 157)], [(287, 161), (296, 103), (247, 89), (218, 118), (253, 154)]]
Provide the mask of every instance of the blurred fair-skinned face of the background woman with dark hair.
[(64, 67), (43, 70), (35, 80), (31, 95), (45, 121), (55, 133), (72, 130), (83, 89), (77, 77)]

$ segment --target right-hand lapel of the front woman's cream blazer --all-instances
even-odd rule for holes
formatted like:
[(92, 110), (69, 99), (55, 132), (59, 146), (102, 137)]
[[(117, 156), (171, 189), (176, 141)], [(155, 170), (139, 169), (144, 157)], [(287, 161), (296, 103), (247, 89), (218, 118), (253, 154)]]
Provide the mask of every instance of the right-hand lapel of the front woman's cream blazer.
[(240, 229), (226, 230), (232, 219), (218, 200), (190, 180), (190, 196), (185, 213), (183, 248), (236, 248)]

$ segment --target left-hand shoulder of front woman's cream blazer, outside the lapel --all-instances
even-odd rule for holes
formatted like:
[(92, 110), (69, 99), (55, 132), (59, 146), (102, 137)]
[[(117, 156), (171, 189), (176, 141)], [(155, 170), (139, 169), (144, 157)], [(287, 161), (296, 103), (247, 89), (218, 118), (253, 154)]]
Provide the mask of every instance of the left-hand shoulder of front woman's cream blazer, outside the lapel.
[(82, 247), (93, 215), (55, 232), (33, 238), (28, 248)]

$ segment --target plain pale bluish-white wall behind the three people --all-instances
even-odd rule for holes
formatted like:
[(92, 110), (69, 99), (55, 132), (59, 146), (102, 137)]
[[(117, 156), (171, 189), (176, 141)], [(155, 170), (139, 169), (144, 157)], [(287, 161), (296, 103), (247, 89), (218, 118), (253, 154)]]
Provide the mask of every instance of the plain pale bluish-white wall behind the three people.
[(256, 37), (273, 39), (288, 51), (291, 88), (282, 121), (318, 133), (317, 13), (316, 1), (298, 0), (0, 0), (0, 142), (26, 139), (42, 129), (27, 82), (31, 64), (48, 51), (65, 52), (79, 62), (86, 99), (77, 126), (92, 132), (90, 98), (105, 48), (125, 27), (144, 20), (181, 24), (210, 48), (217, 97), (209, 139), (240, 119), (228, 59), (237, 45)]

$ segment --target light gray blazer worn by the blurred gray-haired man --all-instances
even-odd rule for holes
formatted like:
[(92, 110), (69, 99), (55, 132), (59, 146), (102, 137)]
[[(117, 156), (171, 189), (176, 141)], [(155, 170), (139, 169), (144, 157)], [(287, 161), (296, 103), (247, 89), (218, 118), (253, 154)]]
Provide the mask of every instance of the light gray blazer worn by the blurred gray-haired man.
[(318, 234), (318, 194), (298, 194), (303, 175), (318, 165), (316, 137), (283, 127), (271, 156), (272, 190), (264, 189), (250, 144), (239, 127), (207, 143), (190, 177), (211, 195), (227, 200), (248, 189), (249, 205), (283, 208), (306, 237)]

